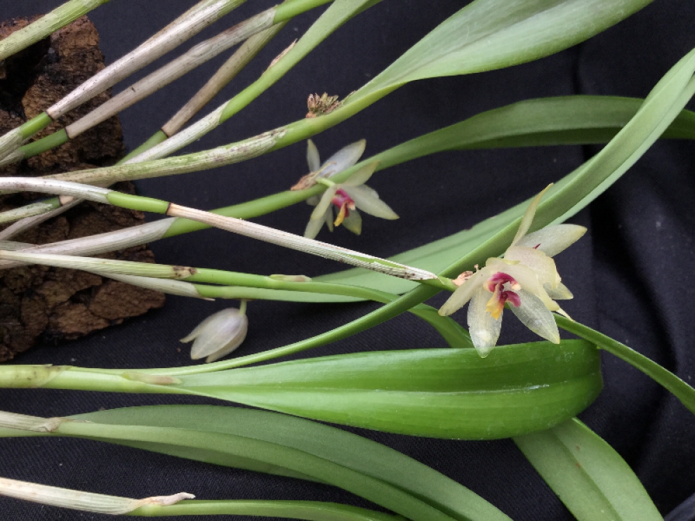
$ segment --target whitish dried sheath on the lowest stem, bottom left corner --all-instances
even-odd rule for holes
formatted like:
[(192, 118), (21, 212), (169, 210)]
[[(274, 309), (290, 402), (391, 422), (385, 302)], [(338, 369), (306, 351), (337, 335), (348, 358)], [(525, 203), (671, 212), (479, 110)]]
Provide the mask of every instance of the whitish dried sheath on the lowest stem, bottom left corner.
[(182, 499), (193, 499), (193, 494), (180, 492), (170, 496), (145, 497), (145, 499), (131, 499), (129, 497), (109, 496), (59, 488), (28, 481), (0, 478), (0, 495), (16, 497), (34, 503), (51, 506), (62, 506), (87, 512), (123, 515), (130, 513), (140, 506), (145, 505), (172, 505)]

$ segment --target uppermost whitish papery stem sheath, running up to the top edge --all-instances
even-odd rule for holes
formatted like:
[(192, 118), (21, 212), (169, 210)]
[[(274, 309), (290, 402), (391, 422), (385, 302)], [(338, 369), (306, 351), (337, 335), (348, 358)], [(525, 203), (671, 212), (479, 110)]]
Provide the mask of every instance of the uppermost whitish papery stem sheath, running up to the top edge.
[(115, 61), (92, 78), (85, 81), (58, 103), (46, 110), (56, 119), (88, 99), (104, 92), (123, 78), (163, 56), (179, 46), (204, 28), (226, 15), (244, 0), (204, 0), (183, 13), (163, 31), (149, 38), (130, 53)]

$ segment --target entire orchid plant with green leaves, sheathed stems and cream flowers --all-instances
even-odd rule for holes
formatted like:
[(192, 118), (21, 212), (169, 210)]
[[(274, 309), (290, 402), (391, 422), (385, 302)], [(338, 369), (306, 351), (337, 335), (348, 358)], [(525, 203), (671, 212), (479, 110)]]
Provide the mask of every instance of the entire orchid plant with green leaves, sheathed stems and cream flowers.
[[(0, 40), (0, 60), (10, 58), (107, 1), (67, 1)], [(602, 390), (599, 350), (644, 372), (694, 414), (695, 389), (624, 343), (572, 320), (556, 302), (573, 295), (562, 283), (553, 257), (587, 231), (564, 221), (618, 181), (660, 136), (695, 139), (695, 114), (685, 110), (695, 94), (695, 51), (676, 63), (644, 100), (582, 96), (531, 99), (488, 110), (365, 159), (361, 158), (366, 140), (352, 142), (322, 163), (312, 136), (367, 110), (403, 85), (537, 60), (591, 38), (649, 3), (475, 0), (344, 99), (328, 93), (311, 94), (309, 114), (302, 119), (239, 142), (170, 157), (241, 113), (300, 60), (311, 60), (311, 51), (338, 28), (354, 17), (368, 16), (364, 13), (379, 3), (286, 0), (197, 44), (122, 90), (94, 113), (35, 139), (49, 124), (60, 124), (61, 117), (76, 106), (153, 63), (243, 3), (195, 3), (131, 53), (0, 137), (0, 165), (22, 165), (22, 161), (60, 147), (106, 117), (120, 113), (240, 44), (193, 99), (120, 163), (58, 172), (40, 179), (0, 177), (3, 193), (31, 191), (51, 196), (39, 203), (0, 212), (0, 223), (8, 224), (0, 231), (0, 269), (28, 264), (64, 267), (182, 298), (239, 300), (239, 308), (208, 316), (181, 339), (193, 340), (191, 358), (205, 358), (206, 363), (140, 369), (46, 363), (3, 365), (0, 388), (185, 395), (268, 411), (190, 404), (136, 406), (74, 415), (66, 412), (66, 416), (51, 417), (6, 411), (0, 412), (0, 437), (70, 436), (330, 484), (387, 512), (323, 501), (195, 501), (193, 494), (173, 490), (163, 491), (165, 495), (132, 499), (10, 478), (0, 478), (0, 495), (81, 511), (126, 515), (269, 515), (320, 521), (510, 519), (481, 495), (444, 474), (357, 434), (311, 421), (318, 420), (407, 436), (452, 440), (512, 438), (579, 521), (661, 520), (635, 472), (576, 415), (591, 406)], [(325, 4), (329, 5), (301, 38), (283, 46), (256, 81), (186, 126), (288, 22), (300, 15), (311, 16), (314, 8)], [(394, 114), (393, 121), (397, 122), (398, 117)], [(242, 163), (304, 140), (309, 174), (291, 190), (234, 206), (205, 211), (176, 201), (106, 188), (116, 181), (188, 174)], [(530, 201), (522, 201), (470, 229), (398, 256), (382, 258), (316, 240), (324, 224), (330, 231), (342, 224), (360, 235), (358, 209), (384, 220), (397, 220), (398, 215), (365, 183), (375, 174), (409, 160), (461, 149), (597, 142), (606, 143), (598, 154)], [(430, 172), (426, 175), (430, 176)], [(397, 201), (390, 190), (393, 185), (385, 186), (385, 190), (379, 190), (386, 199)], [(412, 187), (417, 189), (418, 186)], [(13, 240), (22, 231), (57, 217), (81, 201), (158, 213), (166, 218), (47, 245)], [(297, 230), (251, 221), (301, 201), (315, 207), (303, 235), (293, 233)], [(396, 229), (398, 224), (384, 226)], [(268, 251), (293, 249), (345, 263), (352, 269), (322, 276), (292, 274), (298, 270), (288, 261), (292, 266), (288, 269), (290, 274), (266, 276), (179, 263), (116, 261), (101, 256), (115, 249), (210, 227), (269, 242)], [(237, 254), (243, 258), (245, 251), (240, 248)], [(279, 262), (285, 261), (277, 257)], [(439, 310), (425, 304), (439, 292), (451, 293)], [(250, 300), (321, 304), (373, 301), (382, 306), (315, 336), (250, 354), (243, 354), (244, 347), (239, 350), (242, 356), (236, 356), (247, 333), (250, 339), (254, 334), (254, 322), (250, 324), (247, 317)], [(464, 328), (455, 312), (466, 304), (468, 327)], [(545, 341), (496, 347), (505, 308)], [(574, 309), (570, 311), (577, 316)], [(362, 349), (357, 340), (348, 340), (405, 312), (414, 315), (413, 320), (431, 326), (441, 336), (439, 342), (448, 347), (411, 349), (412, 345), (404, 345), (399, 346), (406, 348), (402, 350), (375, 351)], [(265, 319), (272, 324), (272, 312)], [(296, 322), (297, 328), (302, 325), (301, 320)], [(578, 339), (562, 338), (561, 330)], [(347, 354), (299, 357), (245, 367), (338, 340), (346, 340), (354, 349)], [(232, 352), (234, 356), (229, 356)], [(197, 491), (196, 494), (201, 496)], [(532, 515), (539, 518), (537, 513)]]

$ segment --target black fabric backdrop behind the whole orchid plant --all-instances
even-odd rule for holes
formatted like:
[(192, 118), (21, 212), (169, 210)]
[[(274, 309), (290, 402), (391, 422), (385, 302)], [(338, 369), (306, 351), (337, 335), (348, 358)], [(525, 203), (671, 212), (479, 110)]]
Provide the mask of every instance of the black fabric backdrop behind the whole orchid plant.
[[(51, 0), (0, 0), (0, 18), (43, 13)], [(359, 88), (464, 2), (384, 0), (343, 26), (263, 97), (190, 150), (275, 128), (300, 119), (310, 92), (345, 95)], [(107, 63), (136, 47), (193, 0), (113, 0), (90, 17)], [(250, 0), (203, 35), (215, 34), (272, 5)], [(229, 85), (211, 108), (248, 85), (318, 15), (297, 17)], [(644, 97), (676, 61), (695, 46), (695, 8), (687, 0), (660, 0), (589, 42), (534, 63), (496, 72), (420, 81), (401, 88), (349, 121), (316, 136), (322, 158), (366, 138), (371, 155), (447, 124), (533, 97), (616, 94)], [(193, 42), (201, 40), (195, 38)], [(184, 49), (193, 42), (183, 45)], [(126, 143), (136, 147), (212, 74), (220, 57), (122, 113)], [(155, 65), (163, 64), (159, 60)], [(152, 70), (153, 66), (147, 70)], [(136, 77), (141, 77), (139, 74)], [(124, 88), (121, 85), (120, 88)], [(117, 87), (115, 90), (120, 90)], [(462, 151), (421, 158), (377, 174), (370, 185), (400, 215), (397, 222), (366, 217), (363, 235), (344, 229), (320, 238), (390, 256), (422, 245), (539, 192), (596, 152), (596, 147)], [(143, 195), (209, 209), (284, 190), (306, 173), (305, 144), (263, 158), (176, 178), (138, 183)], [(589, 228), (557, 258), (575, 293), (566, 306), (577, 320), (626, 342), (676, 372), (695, 377), (692, 311), (695, 299), (695, 217), (690, 142), (657, 142), (637, 165), (573, 219)], [(309, 208), (281, 210), (258, 220), (302, 233)], [(293, 251), (202, 231), (152, 245), (158, 262), (217, 267), (259, 274), (309, 276), (339, 265)], [(433, 299), (441, 304), (441, 297)], [(17, 363), (86, 367), (165, 367), (190, 363), (178, 339), (204, 317), (227, 306), (169, 297), (165, 308), (122, 326), (63, 345), (42, 345)], [(344, 324), (374, 304), (308, 305), (254, 302), (250, 329), (238, 354), (308, 338)], [(457, 315), (464, 320), (464, 314)], [(511, 317), (501, 342), (532, 338)], [(376, 349), (439, 347), (436, 333), (414, 317), (398, 317), (334, 345), (306, 352), (320, 356)], [(605, 390), (581, 418), (631, 465), (662, 513), (695, 492), (695, 418), (637, 370), (604, 354)], [(0, 390), (2, 408), (33, 415), (71, 415), (141, 404), (215, 403), (204, 399), (116, 395), (58, 390)], [(509, 440), (463, 442), (395, 436), (352, 429), (443, 472), (517, 521), (571, 520), (542, 479)], [(186, 490), (199, 499), (314, 499), (368, 506), (343, 490), (294, 479), (218, 468), (135, 449), (70, 439), (0, 440), (0, 475), (15, 479), (146, 497)], [(7, 520), (82, 520), (106, 516), (0, 499)]]

